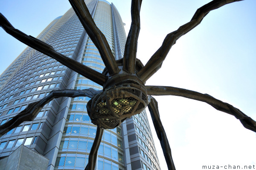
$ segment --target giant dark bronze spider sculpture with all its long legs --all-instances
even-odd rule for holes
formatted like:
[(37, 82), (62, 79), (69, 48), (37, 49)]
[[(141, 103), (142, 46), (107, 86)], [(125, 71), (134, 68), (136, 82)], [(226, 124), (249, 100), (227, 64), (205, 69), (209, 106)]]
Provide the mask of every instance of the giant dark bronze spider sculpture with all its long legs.
[(142, 0), (132, 0), (131, 2), (131, 28), (125, 44), (124, 57), (118, 61), (115, 61), (105, 36), (94, 23), (84, 0), (69, 1), (105, 63), (106, 68), (102, 73), (56, 52), (47, 43), (20, 32), (2, 14), (0, 14), (0, 26), (7, 33), (26, 45), (54, 58), (75, 72), (102, 85), (103, 90), (96, 91), (90, 88), (84, 90), (66, 89), (52, 91), (48, 96), (40, 101), (29, 104), (26, 109), (12, 118), (12, 120), (1, 125), (0, 135), (4, 135), (23, 121), (32, 121), (42, 107), (54, 98), (90, 97), (91, 99), (87, 103), (87, 111), (92, 123), (97, 125), (97, 131), (90, 151), (89, 162), (85, 169), (94, 170), (103, 130), (119, 126), (126, 118), (142, 112), (148, 106), (168, 169), (175, 170), (169, 142), (160, 120), (157, 101), (151, 95), (175, 95), (206, 102), (217, 110), (235, 116), (245, 128), (256, 132), (256, 122), (253, 119), (232, 105), (215, 99), (210, 95), (172, 86), (145, 86), (146, 81), (160, 69), (166, 55), (178, 38), (200, 24), (210, 11), (240, 0), (213, 0), (199, 8), (191, 21), (166, 36), (162, 46), (152, 55), (145, 66), (136, 58)]

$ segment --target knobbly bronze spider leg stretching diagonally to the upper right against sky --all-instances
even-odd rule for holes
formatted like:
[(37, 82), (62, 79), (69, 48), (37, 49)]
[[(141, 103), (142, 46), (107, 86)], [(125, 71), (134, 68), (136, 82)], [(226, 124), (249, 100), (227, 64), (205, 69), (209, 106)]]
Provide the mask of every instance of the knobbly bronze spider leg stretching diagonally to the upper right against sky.
[(241, 0), (213, 0), (199, 8), (188, 23), (180, 26), (176, 31), (166, 35), (162, 46), (160, 46), (160, 48), (154, 53), (154, 55), (151, 56), (145, 66), (137, 73), (139, 78), (141, 78), (145, 83), (148, 78), (154, 75), (154, 73), (161, 68), (166, 55), (176, 43), (176, 40), (198, 26), (210, 11), (236, 1)]

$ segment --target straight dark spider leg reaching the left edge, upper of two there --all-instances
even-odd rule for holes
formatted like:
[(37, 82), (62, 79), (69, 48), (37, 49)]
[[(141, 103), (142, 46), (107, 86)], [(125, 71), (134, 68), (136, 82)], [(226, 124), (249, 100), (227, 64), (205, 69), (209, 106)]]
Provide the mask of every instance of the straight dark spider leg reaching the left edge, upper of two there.
[(51, 58), (54, 58), (58, 62), (62, 63), (64, 66), (72, 69), (73, 71), (81, 74), (82, 76), (90, 79), (91, 81), (96, 82), (97, 84), (103, 85), (107, 79), (107, 76), (103, 75), (100, 72), (97, 72), (90, 67), (87, 67), (71, 58), (62, 55), (54, 50), (52, 46), (47, 43), (44, 43), (41, 40), (38, 40), (35, 37), (26, 35), (18, 29), (15, 29), (11, 23), (0, 13), (0, 26), (10, 35), (15, 37), (20, 42), (32, 47), (33, 49), (48, 55)]

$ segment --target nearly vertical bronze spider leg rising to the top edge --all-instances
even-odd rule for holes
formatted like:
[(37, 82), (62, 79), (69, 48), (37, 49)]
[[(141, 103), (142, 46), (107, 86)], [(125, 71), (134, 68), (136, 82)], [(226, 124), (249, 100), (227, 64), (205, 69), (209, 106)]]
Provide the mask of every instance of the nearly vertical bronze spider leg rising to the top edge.
[(138, 37), (140, 34), (140, 7), (142, 0), (131, 1), (131, 28), (125, 43), (123, 70), (135, 73)]

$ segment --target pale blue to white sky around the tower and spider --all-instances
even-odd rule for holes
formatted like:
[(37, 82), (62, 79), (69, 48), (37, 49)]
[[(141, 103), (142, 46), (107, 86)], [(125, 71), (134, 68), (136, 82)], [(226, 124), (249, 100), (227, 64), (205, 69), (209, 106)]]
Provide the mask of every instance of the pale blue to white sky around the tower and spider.
[[(109, 2), (119, 10), (128, 35), (131, 0)], [(189, 22), (196, 9), (208, 2), (144, 0), (137, 58), (145, 64), (167, 34)], [(0, 12), (15, 28), (34, 37), (70, 7), (68, 0), (0, 0)], [(207, 93), (256, 120), (255, 7), (255, 0), (244, 0), (210, 12), (199, 26), (177, 40), (162, 68), (146, 85)], [(25, 48), (0, 29), (0, 73)], [(256, 168), (256, 133), (245, 129), (235, 117), (191, 99), (156, 99), (177, 170), (200, 170), (203, 165)], [(149, 114), (148, 118), (151, 123)], [(161, 168), (167, 170), (153, 125), (151, 130)]]

